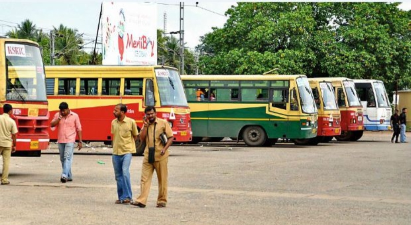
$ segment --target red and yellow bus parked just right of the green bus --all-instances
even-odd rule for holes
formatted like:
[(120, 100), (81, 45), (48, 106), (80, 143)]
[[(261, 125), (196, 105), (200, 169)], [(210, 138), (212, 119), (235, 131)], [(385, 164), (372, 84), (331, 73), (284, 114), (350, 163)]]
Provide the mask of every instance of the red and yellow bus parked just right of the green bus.
[(296, 139), (297, 144), (316, 145), (322, 141), (329, 141), (335, 135), (341, 134), (340, 110), (335, 100), (332, 83), (322, 78), (308, 78), (318, 109), (317, 136), (309, 139)]

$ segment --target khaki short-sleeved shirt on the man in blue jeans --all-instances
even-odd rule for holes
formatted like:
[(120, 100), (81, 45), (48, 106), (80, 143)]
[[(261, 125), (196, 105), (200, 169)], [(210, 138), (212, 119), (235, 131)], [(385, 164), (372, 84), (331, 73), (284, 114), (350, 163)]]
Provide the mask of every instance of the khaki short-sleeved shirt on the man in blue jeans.
[(113, 134), (113, 154), (135, 153), (133, 136), (138, 135), (138, 130), (134, 119), (127, 116), (121, 122), (117, 118), (113, 119), (111, 133)]

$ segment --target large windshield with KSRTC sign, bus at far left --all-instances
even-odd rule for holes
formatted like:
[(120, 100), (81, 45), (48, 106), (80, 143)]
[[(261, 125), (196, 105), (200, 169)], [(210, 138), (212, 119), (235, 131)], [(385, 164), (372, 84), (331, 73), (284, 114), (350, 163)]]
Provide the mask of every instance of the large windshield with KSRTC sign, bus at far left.
[(46, 101), (42, 55), (36, 45), (6, 42), (7, 100)]

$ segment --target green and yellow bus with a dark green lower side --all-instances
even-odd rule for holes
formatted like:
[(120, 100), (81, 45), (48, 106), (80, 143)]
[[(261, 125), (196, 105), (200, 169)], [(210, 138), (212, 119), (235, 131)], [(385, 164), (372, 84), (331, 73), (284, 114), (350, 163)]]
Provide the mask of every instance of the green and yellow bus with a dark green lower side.
[(193, 142), (243, 139), (270, 146), (278, 138), (317, 134), (317, 108), (305, 75), (181, 75)]

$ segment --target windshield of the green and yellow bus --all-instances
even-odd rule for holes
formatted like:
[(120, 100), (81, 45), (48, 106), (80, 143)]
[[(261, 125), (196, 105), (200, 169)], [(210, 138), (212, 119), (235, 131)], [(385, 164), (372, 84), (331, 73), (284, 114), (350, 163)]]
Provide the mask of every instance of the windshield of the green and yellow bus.
[(297, 86), (300, 93), (302, 111), (305, 113), (317, 112), (317, 107), (315, 106), (314, 102), (314, 96), (307, 77), (298, 77)]

